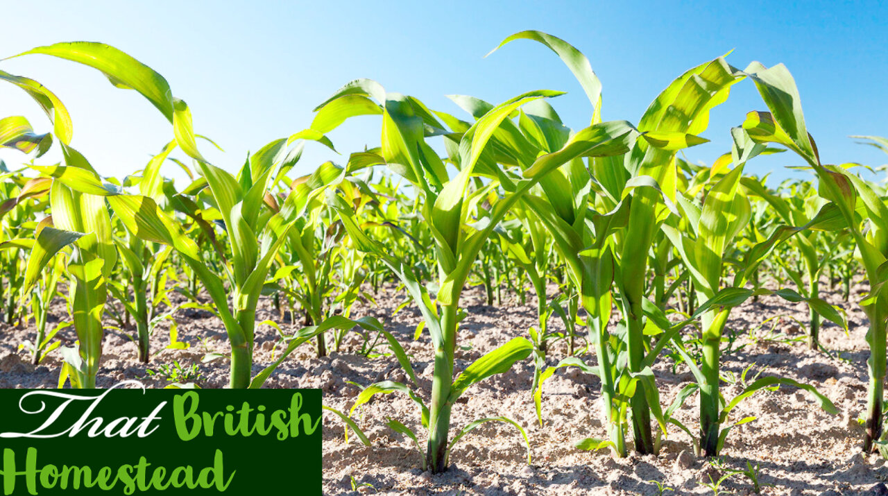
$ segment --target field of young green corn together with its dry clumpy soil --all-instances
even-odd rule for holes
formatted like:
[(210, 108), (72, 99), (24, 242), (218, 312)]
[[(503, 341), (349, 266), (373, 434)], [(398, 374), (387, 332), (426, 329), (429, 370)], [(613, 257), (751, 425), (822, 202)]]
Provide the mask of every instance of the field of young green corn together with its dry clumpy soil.
[[(523, 39), (575, 75), (588, 127), (561, 91), (453, 115), (355, 80), (242, 166), (205, 160), (216, 143), (131, 55), (20, 54), (166, 117), (120, 177), (0, 63), (48, 117), (0, 119), (23, 157), (0, 161), (0, 387), (321, 388), (330, 494), (888, 494), (884, 168), (821, 163), (783, 65), (704, 61), (603, 122), (589, 60), (536, 31), (498, 50)], [(761, 98), (707, 130), (734, 83)], [(356, 116), (377, 147), (292, 173)], [(731, 149), (687, 161), (711, 132)], [(778, 153), (811, 179), (744, 172)]]

